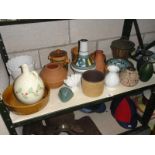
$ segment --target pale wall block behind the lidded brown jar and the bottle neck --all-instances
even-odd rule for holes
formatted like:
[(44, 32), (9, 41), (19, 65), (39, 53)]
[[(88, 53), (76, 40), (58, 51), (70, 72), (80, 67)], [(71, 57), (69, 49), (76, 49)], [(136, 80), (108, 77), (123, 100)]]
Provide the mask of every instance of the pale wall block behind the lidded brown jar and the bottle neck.
[[(67, 46), (58, 46), (58, 47), (40, 49), (39, 55), (40, 55), (40, 59), (41, 59), (41, 66), (43, 67), (45, 64), (50, 62), (48, 60), (48, 56), (51, 51), (54, 51), (56, 49), (61, 49), (61, 50), (67, 51), (68, 57), (71, 59), (71, 49), (75, 46), (78, 46), (78, 44), (76, 43), (76, 44), (71, 44), (71, 45), (67, 45)], [(89, 53), (96, 50), (96, 42), (95, 41), (88, 42), (88, 50), (89, 50)]]

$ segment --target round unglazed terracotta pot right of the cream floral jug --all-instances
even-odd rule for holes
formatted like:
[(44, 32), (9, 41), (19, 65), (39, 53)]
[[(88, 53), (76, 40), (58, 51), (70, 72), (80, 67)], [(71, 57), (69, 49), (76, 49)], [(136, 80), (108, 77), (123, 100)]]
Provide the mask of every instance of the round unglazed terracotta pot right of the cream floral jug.
[(49, 63), (40, 72), (40, 77), (48, 88), (58, 88), (67, 77), (67, 70), (61, 64)]

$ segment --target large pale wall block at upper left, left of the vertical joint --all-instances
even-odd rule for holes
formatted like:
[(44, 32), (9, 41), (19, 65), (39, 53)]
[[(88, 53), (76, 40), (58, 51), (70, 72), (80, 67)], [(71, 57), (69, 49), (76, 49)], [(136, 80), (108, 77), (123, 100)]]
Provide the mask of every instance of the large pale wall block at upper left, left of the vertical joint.
[(0, 32), (8, 52), (64, 45), (69, 42), (67, 20), (1, 26)]

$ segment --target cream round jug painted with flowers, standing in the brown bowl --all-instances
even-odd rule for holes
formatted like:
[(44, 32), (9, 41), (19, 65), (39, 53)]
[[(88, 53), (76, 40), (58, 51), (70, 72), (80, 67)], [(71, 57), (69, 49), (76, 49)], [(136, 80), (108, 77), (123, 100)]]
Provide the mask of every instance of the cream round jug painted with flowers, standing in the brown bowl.
[(27, 64), (21, 68), (22, 74), (14, 82), (14, 93), (22, 103), (36, 103), (44, 95), (44, 83), (37, 72), (29, 71)]

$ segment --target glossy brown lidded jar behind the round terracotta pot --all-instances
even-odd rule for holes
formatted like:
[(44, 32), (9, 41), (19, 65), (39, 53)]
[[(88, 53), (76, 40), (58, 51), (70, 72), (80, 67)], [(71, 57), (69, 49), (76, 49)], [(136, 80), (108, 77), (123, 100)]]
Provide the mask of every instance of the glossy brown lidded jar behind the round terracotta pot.
[(55, 51), (52, 51), (49, 54), (48, 59), (52, 63), (60, 63), (64, 68), (68, 69), (69, 58), (67, 56), (67, 52), (64, 50), (57, 49)]

